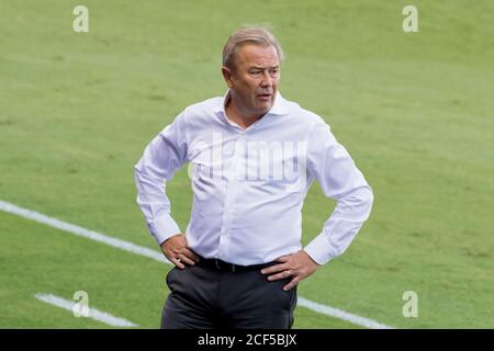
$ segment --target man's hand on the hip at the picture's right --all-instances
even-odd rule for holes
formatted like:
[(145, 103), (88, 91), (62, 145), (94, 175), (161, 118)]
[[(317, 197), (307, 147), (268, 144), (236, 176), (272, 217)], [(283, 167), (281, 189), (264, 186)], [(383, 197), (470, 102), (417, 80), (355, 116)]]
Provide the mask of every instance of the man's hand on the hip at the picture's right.
[(284, 291), (295, 287), (299, 282), (312, 273), (314, 273), (319, 264), (317, 264), (304, 250), (282, 256), (276, 260), (280, 264), (274, 264), (261, 270), (262, 274), (271, 274), (269, 281), (292, 278), (291, 282), (283, 286)]

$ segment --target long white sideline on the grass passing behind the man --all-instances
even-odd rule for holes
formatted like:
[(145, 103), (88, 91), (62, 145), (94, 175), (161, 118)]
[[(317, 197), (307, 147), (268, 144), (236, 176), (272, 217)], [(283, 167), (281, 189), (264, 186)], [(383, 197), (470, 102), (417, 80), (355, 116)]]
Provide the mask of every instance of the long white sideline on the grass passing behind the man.
[[(89, 230), (86, 229), (83, 227), (79, 227), (76, 225), (72, 225), (70, 223), (57, 219), (57, 218), (53, 218), (53, 217), (48, 217), (42, 213), (35, 212), (35, 211), (31, 211), (27, 208), (23, 208), (23, 207), (19, 207), (14, 204), (11, 204), (9, 202), (4, 202), (0, 200), (0, 210), (27, 218), (27, 219), (32, 219), (45, 225), (48, 225), (50, 227), (64, 230), (64, 231), (68, 231), (71, 234), (75, 234), (77, 236), (87, 238), (87, 239), (91, 239), (91, 240), (96, 240), (96, 241), (100, 241), (110, 246), (113, 246), (115, 248), (128, 251), (128, 252), (133, 252), (139, 256), (144, 256), (150, 259), (154, 259), (156, 261), (159, 262), (165, 262), (165, 263), (169, 263), (171, 264), (161, 252), (155, 251), (155, 250), (150, 250), (148, 248), (122, 240), (122, 239), (117, 239), (114, 237), (110, 237), (106, 236), (104, 234), (98, 233), (98, 231), (93, 231), (93, 230)], [(361, 326), (361, 327), (366, 327), (366, 328), (371, 328), (371, 329), (393, 329), (393, 327), (380, 324), (379, 321), (372, 320), (372, 319), (368, 319), (358, 315), (353, 315), (350, 313), (347, 313), (345, 310), (335, 308), (335, 307), (330, 307), (327, 305), (323, 305), (323, 304), (318, 304), (315, 302), (312, 302), (310, 299), (306, 299), (302, 296), (299, 296), (299, 302), (297, 302), (299, 306), (305, 307), (307, 309), (311, 309), (315, 313), (322, 314), (322, 315), (326, 315), (326, 316), (330, 316), (337, 319), (341, 319), (341, 320), (346, 320), (349, 321), (353, 325), (357, 326)]]

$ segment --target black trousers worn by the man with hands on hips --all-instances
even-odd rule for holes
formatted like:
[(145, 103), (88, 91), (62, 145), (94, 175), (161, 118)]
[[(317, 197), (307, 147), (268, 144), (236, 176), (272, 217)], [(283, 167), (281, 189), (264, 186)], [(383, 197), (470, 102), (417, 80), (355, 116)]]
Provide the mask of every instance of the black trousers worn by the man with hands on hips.
[(260, 268), (233, 271), (205, 263), (173, 268), (166, 279), (170, 294), (161, 328), (290, 329), (296, 286), (282, 288), (290, 280), (268, 281)]

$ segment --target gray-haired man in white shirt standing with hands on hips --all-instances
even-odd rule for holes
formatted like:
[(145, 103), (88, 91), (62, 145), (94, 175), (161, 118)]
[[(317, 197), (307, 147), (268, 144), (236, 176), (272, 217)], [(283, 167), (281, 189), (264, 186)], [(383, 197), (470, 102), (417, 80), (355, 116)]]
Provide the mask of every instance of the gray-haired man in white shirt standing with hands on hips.
[[(291, 328), (296, 285), (343, 253), (369, 216), (371, 188), (329, 126), (278, 92), (282, 59), (268, 30), (234, 33), (226, 95), (187, 107), (135, 167), (137, 203), (176, 265), (161, 328)], [(183, 235), (164, 184), (186, 162), (193, 206)], [(302, 249), (314, 180), (337, 206)]]

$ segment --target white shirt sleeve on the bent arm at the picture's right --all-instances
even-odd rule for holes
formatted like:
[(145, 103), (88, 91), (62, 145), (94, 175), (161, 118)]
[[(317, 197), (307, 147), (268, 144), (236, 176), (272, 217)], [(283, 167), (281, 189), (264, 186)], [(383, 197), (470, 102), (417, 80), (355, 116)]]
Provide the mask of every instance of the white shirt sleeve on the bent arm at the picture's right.
[(318, 264), (338, 257), (348, 248), (369, 217), (373, 194), (345, 147), (333, 136), (329, 126), (317, 122), (310, 132), (307, 171), (326, 196), (337, 205), (322, 233), (305, 248)]

